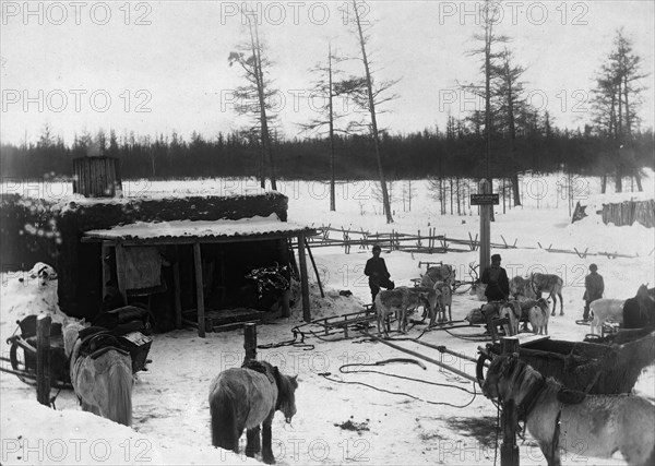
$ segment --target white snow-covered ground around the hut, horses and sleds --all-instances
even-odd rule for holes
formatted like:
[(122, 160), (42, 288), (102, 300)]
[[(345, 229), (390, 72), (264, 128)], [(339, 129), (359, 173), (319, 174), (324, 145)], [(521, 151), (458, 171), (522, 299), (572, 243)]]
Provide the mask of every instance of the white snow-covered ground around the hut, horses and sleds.
[[(653, 196), (653, 174), (644, 180), (646, 195)], [(655, 283), (652, 251), (653, 229), (639, 225), (615, 227), (604, 225), (594, 208), (590, 217), (571, 225), (565, 199), (558, 183), (563, 177), (526, 177), (522, 180), (524, 207), (502, 214), (491, 226), (492, 242), (502, 237), (520, 249), (493, 250), (503, 256), (503, 266), (511, 275), (539, 268), (558, 273), (564, 279), (564, 312), (549, 322), (551, 337), (580, 340), (588, 327), (575, 324), (582, 315), (584, 275), (588, 264), (598, 264), (605, 277), (606, 297), (634, 296), (642, 283)], [(218, 193), (226, 188), (240, 194), (255, 190), (257, 183), (238, 180), (195, 180), (183, 182), (141, 182), (140, 194), (184, 195)], [(402, 182), (394, 188), (401, 190)], [(597, 180), (576, 181), (576, 200), (599, 205), (616, 199), (599, 199)], [(538, 187), (538, 189), (537, 189)], [(129, 190), (129, 183), (126, 191)], [(475, 212), (471, 215), (438, 214), (437, 201), (427, 194), (425, 182), (413, 182), (415, 195), (412, 211), (403, 212), (394, 203), (395, 223), (386, 225), (374, 200), (373, 182), (340, 184), (337, 212), (329, 212), (326, 186), (319, 182), (287, 182), (281, 188), (289, 196), (289, 220), (308, 225), (332, 225), (369, 231), (415, 232), (425, 235), (429, 227), (437, 234), (454, 238), (474, 237), (479, 229)], [(15, 186), (12, 187), (15, 189)], [(611, 191), (611, 187), (609, 188)], [(7, 189), (4, 190), (7, 192)], [(61, 192), (61, 191), (58, 191)], [(532, 194), (531, 194), (532, 193)], [(536, 194), (535, 194), (536, 193)], [(129, 194), (129, 193), (128, 193)], [(623, 196), (638, 193), (623, 194)], [(644, 195), (644, 194), (640, 194)], [(547, 252), (538, 248), (552, 244), (557, 249), (577, 248), (588, 252), (611, 252), (634, 258), (593, 255), (581, 259), (574, 254)], [(525, 249), (524, 249), (525, 248)], [(527, 249), (531, 248), (531, 249)], [(326, 297), (318, 296), (311, 284), (312, 315), (315, 318), (343, 314), (361, 309), (369, 302), (369, 289), (362, 276), (370, 252), (354, 247), (349, 254), (343, 248), (313, 248)], [(636, 254), (639, 254), (636, 256)], [(651, 254), (651, 255), (650, 255)], [(418, 277), (419, 261), (444, 261), (457, 267), (457, 277), (468, 279), (468, 263), (477, 262), (477, 252), (449, 254), (410, 254), (393, 251), (383, 253), (396, 285), (409, 285)], [(56, 304), (56, 284), (39, 286), (37, 280), (20, 283), (19, 274), (2, 275), (0, 296), (0, 339), (15, 330), (15, 321), (29, 313), (50, 312), (61, 319)], [(340, 296), (350, 290), (352, 297)], [(297, 300), (298, 301), (298, 300)], [(455, 295), (453, 319), (461, 320), (479, 302), (473, 297)], [(293, 339), (291, 328), (301, 324), (298, 302), (289, 319), (276, 320), (258, 331), (260, 345)], [(415, 326), (408, 336), (418, 336), (424, 326)], [(476, 356), (483, 342), (463, 339), (456, 335), (477, 334), (480, 328), (457, 328), (426, 333), (421, 340), (445, 345), (449, 349)], [(155, 335), (147, 372), (139, 373), (133, 392), (133, 426), (126, 428), (91, 414), (82, 413), (72, 392), (62, 391), (56, 401), (57, 409), (36, 403), (35, 391), (14, 375), (0, 373), (0, 437), (1, 464), (248, 464), (243, 455), (213, 449), (210, 437), (207, 392), (211, 380), (222, 370), (239, 366), (243, 357), (242, 332), (209, 333), (199, 338), (191, 330)], [(388, 346), (361, 337), (323, 342), (309, 336), (306, 346), (278, 346), (259, 349), (259, 357), (277, 365), (285, 373), (299, 374), (296, 401), (298, 414), (291, 425), (276, 416), (273, 423), (274, 453), (281, 464), (493, 464), (496, 440), (496, 407), (484, 396), (477, 396), (472, 383), (453, 373), (427, 365), (386, 365), (373, 370), (430, 382), (420, 383), (378, 373), (340, 373), (345, 363), (371, 363), (389, 358), (405, 357)], [(410, 342), (402, 345), (474, 374), (472, 362), (460, 360)], [(8, 356), (9, 346), (2, 348)], [(366, 368), (371, 369), (371, 368)], [(326, 375), (330, 373), (330, 375)], [(326, 377), (325, 377), (326, 375)], [(404, 392), (398, 395), (377, 391)], [(655, 368), (640, 378), (635, 392), (655, 397)], [(419, 399), (416, 399), (419, 398)], [(655, 420), (654, 420), (655, 422)], [(529, 435), (521, 443), (521, 464), (545, 464), (544, 457)], [(622, 464), (617, 456), (599, 461), (587, 458), (583, 451), (563, 456), (565, 465)], [(500, 463), (500, 457), (497, 458)]]

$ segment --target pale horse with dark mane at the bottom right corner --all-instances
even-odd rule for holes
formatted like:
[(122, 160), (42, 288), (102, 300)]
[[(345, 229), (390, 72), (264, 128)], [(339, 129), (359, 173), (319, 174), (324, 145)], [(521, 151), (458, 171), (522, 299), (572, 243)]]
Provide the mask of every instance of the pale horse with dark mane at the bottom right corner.
[(549, 466), (561, 464), (560, 449), (602, 458), (619, 451), (629, 465), (655, 464), (655, 406), (645, 398), (586, 395), (564, 404), (562, 385), (516, 355), (495, 357), (481, 385), (488, 398), (514, 401)]

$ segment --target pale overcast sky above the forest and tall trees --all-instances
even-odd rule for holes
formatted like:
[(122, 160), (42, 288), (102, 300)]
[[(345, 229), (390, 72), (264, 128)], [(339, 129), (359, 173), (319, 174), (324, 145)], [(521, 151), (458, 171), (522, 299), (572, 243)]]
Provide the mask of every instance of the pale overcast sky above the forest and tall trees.
[[(234, 110), (233, 89), (243, 83), (227, 57), (248, 38), (238, 13), (243, 3), (216, 1), (2, 1), (0, 138), (35, 141), (45, 124), (67, 142), (73, 134), (115, 129), (118, 134), (207, 138), (247, 124)], [(250, 2), (279, 89), (279, 123), (287, 136), (321, 107), (309, 99), (308, 69), (324, 60), (332, 40), (357, 55), (353, 9), (344, 1)], [(559, 127), (591, 120), (594, 75), (623, 27), (650, 73), (640, 116), (653, 127), (653, 1), (503, 1), (497, 31), (510, 36), (524, 65), (533, 105)], [(344, 8), (347, 7), (347, 8)], [(444, 128), (476, 103), (457, 83), (479, 81), (477, 2), (370, 1), (369, 44), (377, 76), (400, 79), (398, 98), (380, 117), (394, 133)], [(355, 68), (353, 68), (355, 67)], [(358, 71), (361, 63), (348, 67)]]

